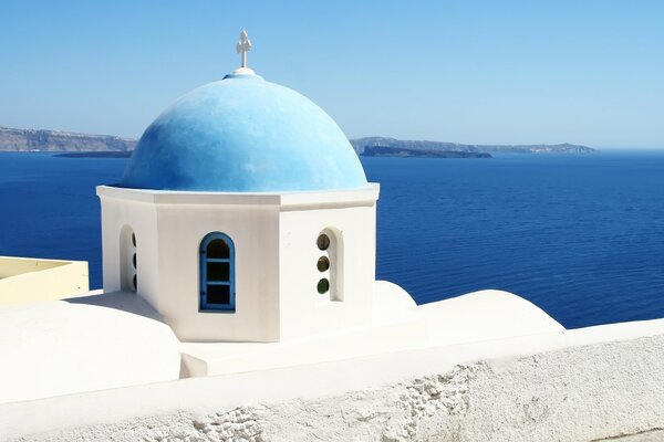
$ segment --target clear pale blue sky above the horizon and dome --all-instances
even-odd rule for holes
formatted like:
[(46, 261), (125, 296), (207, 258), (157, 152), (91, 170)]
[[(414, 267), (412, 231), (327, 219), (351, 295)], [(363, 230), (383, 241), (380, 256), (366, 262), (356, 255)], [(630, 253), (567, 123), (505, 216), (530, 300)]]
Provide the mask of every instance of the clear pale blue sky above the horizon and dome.
[(0, 126), (138, 137), (243, 28), (351, 138), (664, 147), (658, 0), (0, 0)]

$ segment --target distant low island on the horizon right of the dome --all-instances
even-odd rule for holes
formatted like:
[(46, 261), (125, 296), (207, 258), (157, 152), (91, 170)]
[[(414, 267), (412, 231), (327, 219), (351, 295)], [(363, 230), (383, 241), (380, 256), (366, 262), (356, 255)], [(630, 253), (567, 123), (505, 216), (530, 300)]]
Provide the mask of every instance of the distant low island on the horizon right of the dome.
[[(457, 143), (444, 141), (417, 141), (402, 140), (385, 137), (366, 137), (351, 139), (351, 145), (359, 155), (362, 155), (367, 147), (371, 148), (371, 156), (394, 156), (393, 149), (401, 151), (442, 151), (442, 152), (511, 152), (511, 154), (590, 154), (595, 149), (588, 146), (571, 144), (561, 145), (461, 145)], [(381, 150), (378, 148), (390, 148)], [(418, 156), (417, 154), (413, 156)], [(481, 157), (486, 158), (486, 157)]]

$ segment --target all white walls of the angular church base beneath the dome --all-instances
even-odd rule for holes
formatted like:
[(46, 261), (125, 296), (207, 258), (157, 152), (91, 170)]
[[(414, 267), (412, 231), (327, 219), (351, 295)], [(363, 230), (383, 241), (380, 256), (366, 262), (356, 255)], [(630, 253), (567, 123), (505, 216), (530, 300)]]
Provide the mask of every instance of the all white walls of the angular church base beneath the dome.
[[(371, 323), (377, 185), (294, 193), (168, 192), (101, 186), (104, 290), (123, 286), (120, 244), (136, 234), (139, 296), (180, 338), (278, 341)], [(343, 241), (343, 302), (317, 293), (319, 233)], [(204, 236), (226, 233), (236, 249), (236, 311), (199, 312)], [(126, 253), (125, 253), (126, 255)], [(126, 272), (125, 272), (126, 273)], [(125, 284), (126, 285), (126, 284)]]

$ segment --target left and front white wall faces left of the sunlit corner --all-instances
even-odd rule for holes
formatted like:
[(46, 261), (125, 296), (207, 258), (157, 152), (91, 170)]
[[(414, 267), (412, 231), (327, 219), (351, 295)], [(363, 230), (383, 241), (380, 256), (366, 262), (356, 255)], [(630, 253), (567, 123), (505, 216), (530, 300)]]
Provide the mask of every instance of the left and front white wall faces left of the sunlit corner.
[[(279, 339), (278, 200), (101, 186), (104, 290), (121, 286), (124, 225), (136, 233), (138, 295), (181, 340)], [(236, 246), (236, 312), (199, 312), (199, 246), (222, 232)]]

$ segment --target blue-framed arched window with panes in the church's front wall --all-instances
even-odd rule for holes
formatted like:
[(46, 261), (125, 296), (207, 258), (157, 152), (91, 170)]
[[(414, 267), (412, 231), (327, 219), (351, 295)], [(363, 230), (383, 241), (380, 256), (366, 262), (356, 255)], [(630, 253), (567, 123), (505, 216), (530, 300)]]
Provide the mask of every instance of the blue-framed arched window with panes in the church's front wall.
[(220, 232), (200, 242), (200, 311), (235, 312), (235, 246)]

